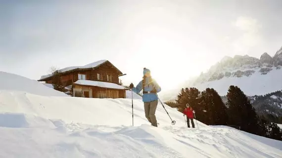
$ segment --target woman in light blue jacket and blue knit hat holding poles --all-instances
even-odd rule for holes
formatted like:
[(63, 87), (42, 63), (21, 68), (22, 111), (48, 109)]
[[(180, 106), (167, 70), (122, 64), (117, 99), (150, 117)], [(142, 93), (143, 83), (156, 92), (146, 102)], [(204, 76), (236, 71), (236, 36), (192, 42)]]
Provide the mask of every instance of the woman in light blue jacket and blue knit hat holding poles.
[(143, 79), (134, 87), (133, 83), (129, 86), (134, 92), (139, 93), (143, 89), (142, 101), (144, 102), (145, 117), (151, 125), (157, 127), (157, 119), (155, 112), (158, 105), (157, 93), (161, 91), (161, 87), (152, 79), (149, 69), (143, 69)]

